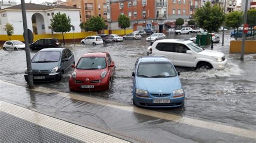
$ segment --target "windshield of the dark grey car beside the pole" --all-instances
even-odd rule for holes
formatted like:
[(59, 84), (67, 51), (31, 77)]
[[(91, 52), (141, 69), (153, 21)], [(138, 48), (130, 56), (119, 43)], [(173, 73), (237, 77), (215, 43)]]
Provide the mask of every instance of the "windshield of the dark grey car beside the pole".
[(58, 62), (60, 59), (59, 51), (41, 51), (38, 52), (31, 62)]

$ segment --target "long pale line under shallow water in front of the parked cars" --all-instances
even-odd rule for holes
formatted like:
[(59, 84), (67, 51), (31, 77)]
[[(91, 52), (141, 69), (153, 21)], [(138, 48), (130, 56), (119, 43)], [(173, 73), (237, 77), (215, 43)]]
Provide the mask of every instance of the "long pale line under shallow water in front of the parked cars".
[[(8, 82), (0, 80), (0, 83), (1, 82), (8, 83)], [(12, 84), (12, 83), (8, 83), (8, 84)], [(156, 118), (160, 118), (160, 119), (166, 119), (166, 120), (170, 120), (170, 121), (175, 121), (175, 122), (181, 123), (181, 124), (187, 124), (187, 125), (206, 128), (206, 129), (214, 130), (214, 131), (218, 131), (218, 132), (238, 135), (240, 137), (256, 139), (255, 131), (247, 130), (244, 128), (238, 128), (238, 127), (233, 127), (233, 126), (228, 126), (228, 125), (223, 125), (223, 124), (218, 124), (218, 123), (212, 123), (210, 121), (204, 121), (204, 120), (192, 119), (192, 118), (188, 118), (188, 117), (177, 116), (177, 115), (173, 115), (171, 113), (163, 113), (163, 112), (138, 108), (136, 106), (130, 106), (130, 105), (122, 104), (122, 103), (118, 103), (118, 102), (107, 101), (104, 99), (92, 98), (92, 97), (82, 96), (82, 95), (78, 95), (78, 94), (69, 94), (66, 92), (61, 92), (61, 91), (57, 91), (57, 90), (53, 90), (53, 89), (49, 89), (49, 88), (38, 87), (35, 89), (31, 89), (31, 90), (43, 92), (45, 94), (49, 94), (51, 92), (56, 92), (58, 94), (57, 96), (62, 96), (65, 98), (71, 98), (71, 99), (76, 99), (79, 101), (108, 106), (108, 107), (119, 109), (119, 110), (139, 113), (142, 115), (156, 117)]]

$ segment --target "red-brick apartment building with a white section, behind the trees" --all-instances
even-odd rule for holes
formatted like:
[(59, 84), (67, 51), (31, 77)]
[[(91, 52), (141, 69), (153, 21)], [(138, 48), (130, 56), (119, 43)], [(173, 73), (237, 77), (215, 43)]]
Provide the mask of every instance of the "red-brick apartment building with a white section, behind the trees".
[(110, 29), (118, 27), (119, 15), (130, 18), (133, 30), (144, 30), (147, 23), (152, 29), (164, 32), (177, 18), (190, 18), (190, 0), (128, 0), (110, 2)]

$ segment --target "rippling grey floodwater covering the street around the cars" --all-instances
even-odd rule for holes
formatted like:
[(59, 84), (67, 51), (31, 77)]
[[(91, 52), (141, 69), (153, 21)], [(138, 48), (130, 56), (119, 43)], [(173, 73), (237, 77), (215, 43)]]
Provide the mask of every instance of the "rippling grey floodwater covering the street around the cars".
[[(222, 34), (219, 33), (219, 35), (222, 38)], [(167, 39), (188, 39), (191, 37), (192, 35), (189, 34), (167, 35)], [(186, 93), (185, 108), (151, 110), (256, 131), (256, 54), (246, 54), (244, 61), (240, 61), (240, 54), (229, 53), (229, 42), (231, 39), (233, 40), (233, 38), (230, 38), (230, 32), (226, 32), (225, 45), (221, 46), (220, 41), (220, 43), (214, 44), (213, 48), (214, 51), (223, 52), (226, 55), (228, 63), (224, 70), (212, 69), (205, 71), (178, 69), (181, 71), (180, 80)], [(97, 46), (84, 46), (80, 44), (76, 44), (75, 47), (73, 47), (73, 45), (66, 46), (75, 55), (76, 62), (80, 56), (87, 52), (104, 51), (110, 53), (113, 61), (116, 63), (116, 75), (114, 76), (111, 89), (108, 91), (91, 93), (70, 92), (68, 80), (72, 71), (65, 74), (62, 81), (35, 85), (39, 88), (82, 95), (80, 98), (94, 97), (104, 99), (104, 101), (107, 102), (114, 102), (114, 104), (118, 105), (133, 106), (131, 73), (137, 58), (146, 55), (146, 50), (149, 46), (150, 43), (146, 42), (145, 38), (142, 40), (124, 40), (124, 42)], [(31, 52), (31, 57), (35, 54), (36, 52)], [(122, 111), (111, 109), (113, 108), (112, 106), (107, 106), (107, 108), (105, 108), (101, 105), (86, 103), (83, 102), (83, 100), (80, 101), (79, 98), (71, 99), (71, 97), (63, 98), (61, 96), (55, 96), (58, 93), (49, 93), (48, 95), (43, 96), (36, 91), (30, 91), (25, 88), (26, 82), (23, 76), (26, 69), (25, 51), (6, 52), (1, 50), (0, 67), (1, 80), (9, 81), (23, 87), (19, 89), (19, 95), (8, 96), (7, 94), (11, 94), (12, 89), (10, 87), (4, 88), (1, 85), (0, 100), (2, 99), (3, 101), (22, 104), (28, 108), (42, 111), (49, 115), (69, 119), (69, 121), (74, 121), (77, 124), (82, 124), (86, 118), (87, 124), (100, 125), (104, 128), (125, 132), (126, 134), (134, 135), (138, 133), (142, 139), (146, 138), (151, 141), (157, 141), (157, 139), (148, 138), (147, 135), (143, 135), (143, 132), (139, 132), (138, 128), (147, 126), (144, 128), (145, 132), (150, 132), (149, 130), (151, 127), (148, 125), (144, 126), (144, 124), (152, 125), (152, 127), (159, 129), (151, 131), (152, 133), (163, 133), (161, 135), (157, 134), (157, 137), (160, 138), (164, 137), (164, 134), (167, 134), (167, 132), (175, 132), (167, 127), (179, 127), (178, 124), (168, 122), (167, 120), (158, 117), (142, 118), (139, 115), (136, 115), (137, 113), (131, 112), (123, 115)], [(85, 109), (86, 111), (84, 111)], [(95, 109), (97, 109), (97, 111)], [(123, 116), (118, 117), (118, 115)], [(135, 125), (134, 122), (136, 122), (136, 125), (139, 124), (137, 128), (131, 127)], [(189, 126), (180, 126), (184, 127), (183, 131), (186, 130), (186, 128), (189, 128)], [(194, 130), (198, 133), (201, 132), (199, 131), (200, 128), (194, 128)], [(196, 139), (197, 135), (193, 138), (189, 135), (185, 135), (185, 132), (188, 131), (177, 133), (176, 135), (178, 137), (174, 135), (175, 137), (173, 138), (176, 138), (177, 140), (172, 141), (207, 141), (207, 137), (203, 137), (204, 134), (199, 135), (200, 139)], [(207, 130), (206, 132), (210, 131)], [(218, 135), (220, 133), (216, 134)], [(183, 136), (183, 139), (179, 138), (181, 136)], [(168, 138), (166, 137), (166, 140), (170, 140), (171, 137), (172, 136)], [(220, 139), (219, 141), (228, 140), (225, 140), (224, 137), (225, 135), (223, 136), (223, 139)], [(212, 140), (208, 140), (210, 142), (216, 141), (213, 140), (213, 137), (209, 138), (212, 138)], [(237, 139), (237, 137), (235, 139)], [(166, 140), (163, 139), (163, 142)], [(252, 140), (241, 139), (239, 141)]]

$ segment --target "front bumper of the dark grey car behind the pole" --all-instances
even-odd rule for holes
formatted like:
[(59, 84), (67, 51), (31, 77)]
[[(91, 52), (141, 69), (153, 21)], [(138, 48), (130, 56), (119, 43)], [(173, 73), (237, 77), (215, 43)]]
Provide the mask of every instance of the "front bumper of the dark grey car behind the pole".
[[(36, 79), (36, 77), (41, 76), (44, 77), (44, 79)], [(53, 82), (60, 79), (60, 73), (53, 73), (53, 74), (47, 74), (47, 75), (33, 75), (33, 82)], [(24, 74), (26, 82), (28, 82), (28, 74)]]

